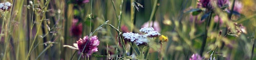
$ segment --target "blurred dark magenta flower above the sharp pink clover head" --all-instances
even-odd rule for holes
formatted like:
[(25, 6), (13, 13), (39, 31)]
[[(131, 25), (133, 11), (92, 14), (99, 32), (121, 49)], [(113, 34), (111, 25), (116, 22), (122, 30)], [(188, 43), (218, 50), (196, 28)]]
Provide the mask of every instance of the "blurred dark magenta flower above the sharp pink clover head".
[(78, 19), (73, 19), (72, 26), (70, 28), (72, 36), (80, 36), (82, 34), (82, 23), (77, 24)]

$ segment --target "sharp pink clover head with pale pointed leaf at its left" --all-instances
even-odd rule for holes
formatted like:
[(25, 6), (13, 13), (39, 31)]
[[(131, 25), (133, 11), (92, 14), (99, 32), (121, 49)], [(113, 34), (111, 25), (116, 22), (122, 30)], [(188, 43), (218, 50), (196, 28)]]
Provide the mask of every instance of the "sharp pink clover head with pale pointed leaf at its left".
[[(63, 47), (76, 49), (82, 52), (83, 54), (90, 56), (93, 52), (98, 51), (97, 46), (99, 46), (99, 40), (97, 36), (93, 36), (90, 39), (88, 36), (86, 36), (86, 37), (83, 37), (83, 39), (80, 38), (78, 41), (76, 41), (76, 43), (74, 43), (74, 46), (75, 47), (70, 45), (63, 45)], [(85, 46), (84, 51), (82, 51), (84, 46)]]

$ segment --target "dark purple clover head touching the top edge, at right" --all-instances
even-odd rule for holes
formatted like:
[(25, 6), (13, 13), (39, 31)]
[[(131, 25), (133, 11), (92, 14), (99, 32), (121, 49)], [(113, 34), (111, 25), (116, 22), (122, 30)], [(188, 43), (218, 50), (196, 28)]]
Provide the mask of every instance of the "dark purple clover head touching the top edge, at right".
[(210, 0), (198, 0), (198, 8), (211, 9)]

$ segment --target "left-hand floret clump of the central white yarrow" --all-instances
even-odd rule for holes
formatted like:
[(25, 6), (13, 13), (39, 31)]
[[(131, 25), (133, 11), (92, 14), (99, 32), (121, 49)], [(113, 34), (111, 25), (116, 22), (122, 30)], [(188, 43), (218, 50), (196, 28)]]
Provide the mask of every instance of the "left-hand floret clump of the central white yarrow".
[(139, 34), (135, 33), (123, 33), (123, 39), (130, 42), (134, 42), (135, 40), (137, 40), (139, 38), (138, 36)]

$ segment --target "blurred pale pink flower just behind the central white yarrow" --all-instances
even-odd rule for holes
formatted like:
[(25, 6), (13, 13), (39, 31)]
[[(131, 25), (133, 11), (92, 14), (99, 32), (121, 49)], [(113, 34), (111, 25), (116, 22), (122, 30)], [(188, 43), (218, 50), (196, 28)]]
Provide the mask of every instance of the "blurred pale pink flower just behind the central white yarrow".
[(141, 27), (142, 28), (143, 27), (153, 27), (157, 32), (161, 31), (161, 28), (159, 26), (159, 22), (157, 22), (157, 21), (154, 21), (154, 25), (153, 25), (152, 21), (145, 22)]

